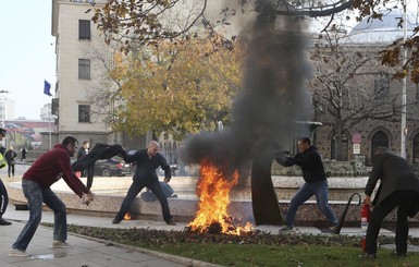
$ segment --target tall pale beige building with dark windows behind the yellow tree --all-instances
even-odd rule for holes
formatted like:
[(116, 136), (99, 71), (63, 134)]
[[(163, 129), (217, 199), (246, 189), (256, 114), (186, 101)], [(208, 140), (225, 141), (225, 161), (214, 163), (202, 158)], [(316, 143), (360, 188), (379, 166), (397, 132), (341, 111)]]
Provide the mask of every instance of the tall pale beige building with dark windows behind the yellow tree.
[[(113, 61), (114, 50), (104, 44), (103, 36), (90, 20), (93, 9), (102, 8), (107, 1), (95, 0), (95, 7), (90, 2), (52, 0), (51, 34), (56, 37), (57, 84), (51, 111), (58, 118), (53, 142), (72, 135), (81, 143), (88, 141), (93, 145), (108, 143), (122, 144), (128, 149), (143, 148), (151, 135), (128, 137), (113, 133), (104, 124), (103, 117), (91, 112), (95, 92), (112, 86), (107, 81), (104, 64)], [(91, 12), (87, 13), (89, 9)]]

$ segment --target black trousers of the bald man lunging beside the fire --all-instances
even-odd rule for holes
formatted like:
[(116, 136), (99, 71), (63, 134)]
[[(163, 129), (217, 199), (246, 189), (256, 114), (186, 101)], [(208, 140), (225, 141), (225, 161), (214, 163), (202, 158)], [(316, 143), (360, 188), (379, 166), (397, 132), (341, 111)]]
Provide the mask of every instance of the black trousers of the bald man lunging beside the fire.
[(118, 211), (118, 215), (115, 217), (116, 219), (122, 220), (124, 218), (125, 214), (130, 211), (131, 205), (133, 204), (135, 197), (137, 197), (138, 193), (146, 186), (159, 199), (163, 213), (163, 220), (165, 222), (169, 222), (172, 219), (172, 216), (170, 215), (169, 210), (168, 198), (164, 195), (163, 190), (161, 189), (160, 182), (158, 180), (144, 181), (144, 179), (136, 179), (134, 180), (133, 184), (131, 184), (128, 193), (126, 193), (126, 196), (122, 202), (120, 211)]

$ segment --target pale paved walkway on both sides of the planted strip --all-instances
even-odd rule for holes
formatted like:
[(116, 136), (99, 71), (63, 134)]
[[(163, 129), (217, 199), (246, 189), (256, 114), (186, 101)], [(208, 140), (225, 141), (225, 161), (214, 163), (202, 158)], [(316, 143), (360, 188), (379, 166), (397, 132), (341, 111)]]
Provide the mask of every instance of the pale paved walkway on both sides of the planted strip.
[[(69, 244), (72, 248), (51, 248), (52, 229), (39, 227), (27, 252), (33, 254), (30, 257), (10, 257), (8, 256), (11, 244), (15, 241), (21, 232), (24, 223), (28, 218), (27, 210), (15, 210), (13, 205), (8, 207), (3, 216), (5, 219), (12, 220), (12, 226), (0, 226), (0, 266), (74, 266), (74, 267), (99, 267), (99, 266), (215, 266), (199, 260), (176, 257), (163, 253), (140, 250), (119, 244), (110, 244), (106, 241), (89, 239), (85, 236), (69, 234)], [(51, 211), (44, 211), (42, 222), (53, 222)], [(186, 223), (178, 222), (176, 226), (168, 226), (163, 221), (152, 220), (130, 220), (120, 224), (112, 224), (111, 218), (93, 217), (83, 215), (67, 216), (67, 222), (79, 226), (95, 226), (107, 228), (151, 228), (158, 230), (176, 230), (182, 231)], [(279, 227), (261, 226), (259, 230), (278, 234)], [(320, 229), (312, 227), (299, 227), (296, 230), (300, 233), (330, 234), (322, 233)], [(360, 228), (343, 228), (342, 234), (360, 235)], [(419, 238), (419, 228), (410, 229), (410, 235)], [(393, 232), (383, 229), (381, 234), (394, 235)], [(389, 244), (386, 248), (394, 248)], [(419, 252), (419, 247), (409, 246), (409, 252)]]

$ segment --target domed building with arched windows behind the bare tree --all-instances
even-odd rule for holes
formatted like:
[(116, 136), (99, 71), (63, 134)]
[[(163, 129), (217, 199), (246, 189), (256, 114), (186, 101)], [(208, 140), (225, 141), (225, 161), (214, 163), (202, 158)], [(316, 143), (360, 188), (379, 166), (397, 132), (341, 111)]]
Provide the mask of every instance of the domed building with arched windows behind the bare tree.
[[(382, 21), (365, 20), (358, 23), (350, 32), (347, 39), (342, 43), (343, 49), (356, 50), (361, 49), (363, 52), (378, 53), (393, 41), (402, 41), (404, 38), (404, 29), (397, 23), (403, 16), (402, 11), (394, 10), (384, 15)], [(412, 34), (412, 28), (417, 26), (415, 16), (409, 15), (407, 20), (407, 35)], [(367, 88), (363, 99), (350, 97), (350, 92), (345, 101), (365, 101), (365, 98), (375, 98), (373, 104), (394, 99), (394, 117), (389, 120), (371, 120), (366, 119), (352, 126), (344, 132), (344, 159), (352, 160), (357, 156), (365, 158), (367, 165), (371, 165), (371, 156), (378, 146), (385, 146), (391, 151), (400, 154), (402, 135), (405, 135), (406, 159), (412, 166), (419, 163), (419, 86), (411, 83), (408, 78), (406, 85), (403, 81), (392, 78), (390, 68), (381, 64), (367, 62), (362, 70), (363, 80), (357, 81), (355, 77), (352, 82), (361, 84)], [(403, 88), (406, 90), (407, 101), (402, 101)], [(394, 98), (393, 98), (394, 97)], [(378, 105), (379, 106), (379, 105)], [(406, 126), (402, 129), (402, 108), (406, 107)], [(328, 107), (316, 110), (316, 119), (320, 122), (326, 121), (328, 113), (324, 110)], [(374, 110), (378, 113), (380, 110)], [(325, 159), (335, 159), (334, 155), (334, 133), (328, 123), (325, 126), (318, 128), (316, 131), (316, 146)]]

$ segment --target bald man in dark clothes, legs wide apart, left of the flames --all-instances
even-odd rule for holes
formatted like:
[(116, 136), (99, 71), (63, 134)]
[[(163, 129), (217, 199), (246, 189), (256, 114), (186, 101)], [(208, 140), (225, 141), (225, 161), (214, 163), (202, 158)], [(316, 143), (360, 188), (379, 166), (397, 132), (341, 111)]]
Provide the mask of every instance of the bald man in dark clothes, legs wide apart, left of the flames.
[(144, 189), (149, 189), (159, 199), (163, 211), (163, 219), (168, 224), (175, 226), (170, 215), (168, 198), (164, 195), (156, 169), (161, 167), (164, 170), (164, 182), (169, 183), (172, 178), (171, 169), (163, 155), (159, 154), (159, 143), (151, 141), (147, 149), (136, 151), (134, 155), (127, 155), (124, 151), (125, 162), (136, 162), (136, 170), (133, 177), (133, 183), (130, 186), (126, 197), (122, 202), (120, 211), (118, 211), (112, 223), (120, 223), (124, 216), (128, 213), (135, 197)]

